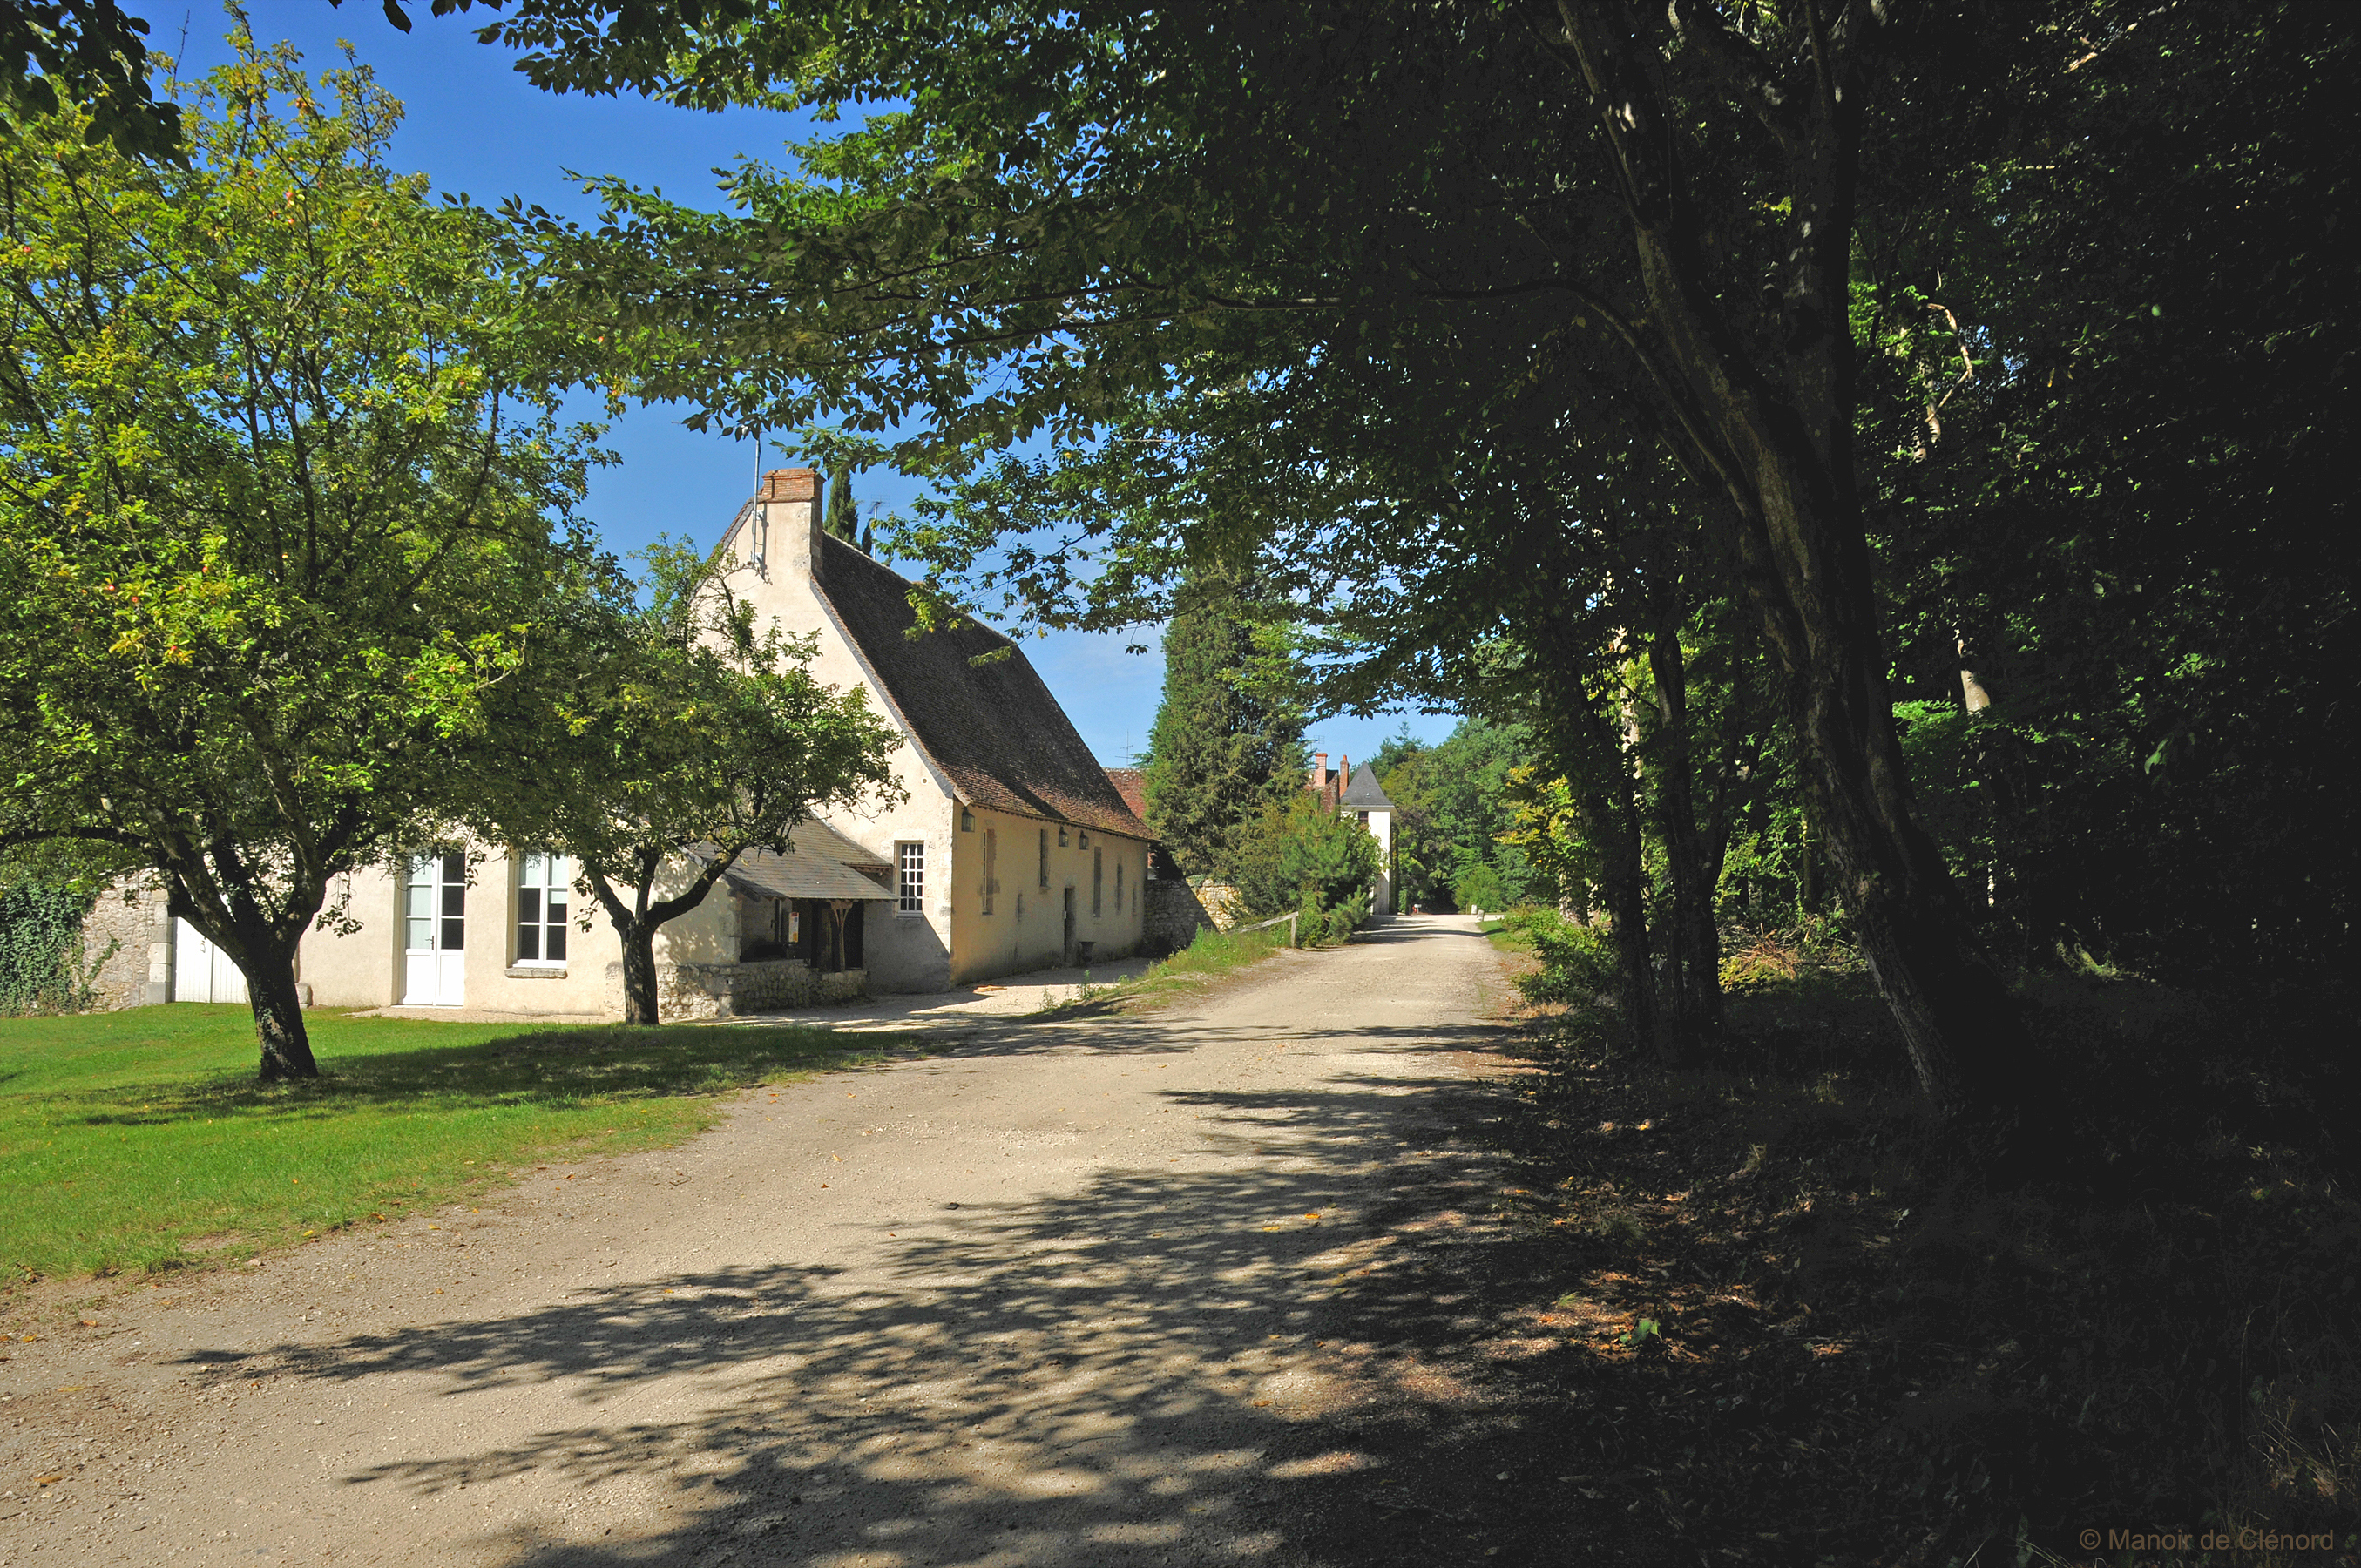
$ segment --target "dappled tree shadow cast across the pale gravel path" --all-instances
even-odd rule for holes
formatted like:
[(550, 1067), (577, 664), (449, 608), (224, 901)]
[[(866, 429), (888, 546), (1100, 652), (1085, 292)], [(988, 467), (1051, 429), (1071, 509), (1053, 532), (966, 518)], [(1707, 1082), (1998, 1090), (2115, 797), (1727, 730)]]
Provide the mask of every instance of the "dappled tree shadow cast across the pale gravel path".
[[(1216, 1152), (1268, 1157), (911, 1211), (857, 1282), (786, 1263), (680, 1273), (260, 1355), (331, 1384), (434, 1374), (446, 1393), (562, 1379), (586, 1407), (696, 1379), (692, 1415), (347, 1476), (416, 1492), (567, 1481), (576, 1523), (484, 1542), (538, 1563), (1575, 1561), (1570, 1542), (1608, 1528), (1584, 1528), (1601, 1504), (1556, 1485), (1546, 1440), (1575, 1358), (1499, 1332), (1499, 1301), (1530, 1299), (1549, 1268), (1492, 1219), (1483, 1138), (1504, 1096), (1381, 1070), (1386, 1051), (1483, 1037), (1306, 1032), (1289, 1046), (1348, 1039), (1379, 1060), (1341, 1056), (1315, 1089), (1171, 1096), (1209, 1117)], [(626, 1478), (668, 1478), (659, 1533), (616, 1521), (583, 1540)]]

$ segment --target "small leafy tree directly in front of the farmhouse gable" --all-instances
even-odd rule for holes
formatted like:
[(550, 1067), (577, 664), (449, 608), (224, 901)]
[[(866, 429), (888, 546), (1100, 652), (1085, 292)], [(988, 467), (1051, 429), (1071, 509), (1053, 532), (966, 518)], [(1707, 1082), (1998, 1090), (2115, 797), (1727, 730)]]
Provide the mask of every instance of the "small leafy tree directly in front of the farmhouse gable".
[(753, 848), (786, 850), (829, 805), (897, 798), (900, 734), (859, 687), (812, 680), (815, 638), (756, 626), (715, 560), (647, 550), (645, 595), (576, 628), (576, 680), (527, 727), (486, 827), (574, 860), (623, 945), (623, 1023), (659, 1018), (656, 933)]

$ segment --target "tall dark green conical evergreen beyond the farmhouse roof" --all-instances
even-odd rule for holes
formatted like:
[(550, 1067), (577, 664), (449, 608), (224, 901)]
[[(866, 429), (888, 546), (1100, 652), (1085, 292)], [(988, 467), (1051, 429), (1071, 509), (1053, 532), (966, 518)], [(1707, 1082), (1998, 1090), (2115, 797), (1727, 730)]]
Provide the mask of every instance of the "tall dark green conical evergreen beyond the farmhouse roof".
[(1199, 576), (1164, 628), (1147, 732), (1147, 827), (1190, 876), (1228, 869), (1242, 829), (1303, 786), (1303, 708), (1270, 680), (1237, 586)]

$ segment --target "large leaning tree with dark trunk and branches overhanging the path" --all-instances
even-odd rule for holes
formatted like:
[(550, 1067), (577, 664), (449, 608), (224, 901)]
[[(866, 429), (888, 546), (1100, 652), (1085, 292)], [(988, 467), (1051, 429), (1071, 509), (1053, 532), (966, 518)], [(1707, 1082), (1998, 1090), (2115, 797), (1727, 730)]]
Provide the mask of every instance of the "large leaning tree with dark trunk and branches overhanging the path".
[[(741, 217), (611, 187), (597, 236), (543, 231), (630, 324), (647, 394), (770, 425), (926, 409), (921, 472), (1032, 435), (1088, 453), (1126, 399), (1176, 394), (1230, 446), (1216, 470), (1265, 453), (1306, 498), (1339, 453), (1251, 418), (1265, 390), (1374, 392), (1348, 489), (1386, 435), (1483, 418), (1660, 446), (1726, 527), (1856, 928), (1927, 1093), (1957, 1108), (2012, 1093), (2026, 1037), (1910, 815), (1849, 260), (1863, 161), (1941, 120), (1941, 66), (2045, 33), (2033, 9), (1884, 17), (1034, 0), (947, 26), (933, 7), (536, 0), (498, 31), (552, 85), (904, 104), (800, 149), (812, 182), (744, 168)], [(1419, 373), (1445, 349), (1466, 380)], [(1428, 432), (1438, 397), (1452, 418)], [(1195, 517), (1157, 515), (1251, 527), (1270, 486), (1202, 494)]]

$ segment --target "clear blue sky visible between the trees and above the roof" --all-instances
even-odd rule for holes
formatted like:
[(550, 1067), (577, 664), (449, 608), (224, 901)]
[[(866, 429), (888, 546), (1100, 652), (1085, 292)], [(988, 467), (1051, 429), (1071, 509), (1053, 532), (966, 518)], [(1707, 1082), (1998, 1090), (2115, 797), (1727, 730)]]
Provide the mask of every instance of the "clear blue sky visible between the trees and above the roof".
[[(149, 43), (182, 57), (184, 76), (229, 57), (222, 43), (229, 21), (215, 5), (132, 0), (125, 9), (146, 17), (153, 28)], [(803, 132), (798, 120), (756, 109), (715, 116), (635, 97), (538, 92), (515, 73), (508, 52), (475, 43), (482, 17), (437, 19), (427, 9), (408, 7), (413, 31), (406, 35), (385, 21), (378, 0), (345, 0), (342, 9), (328, 0), (250, 0), (248, 17), (260, 38), (295, 43), (314, 71), (335, 61), (338, 40), (349, 40), (408, 106), (394, 137), (397, 165), (423, 170), (434, 189), (465, 191), (482, 205), (522, 196), (552, 213), (593, 217), (595, 205), (567, 179), (567, 170), (621, 175), (682, 201), (701, 201), (713, 191), (713, 168), (730, 165), (739, 153), (777, 158), (781, 142)], [(680, 413), (633, 409), (607, 435), (607, 446), (623, 463), (593, 477), (588, 512), (616, 550), (635, 550), (656, 534), (711, 541), (753, 489), (753, 444), (685, 430)], [(767, 465), (777, 465), (777, 449)], [(855, 479), (855, 494), (892, 508), (911, 501), (918, 484), (871, 470)], [(1145, 642), (1150, 652), (1126, 654), (1126, 642)], [(1027, 640), (1025, 656), (1100, 763), (1129, 763), (1147, 744), (1164, 680), (1152, 628), (1126, 638), (1053, 633)], [(1417, 713), (1329, 718), (1313, 725), (1306, 739), (1332, 763), (1336, 753), (1365, 758), (1405, 720), (1412, 734), (1431, 741), (1454, 723)]]

